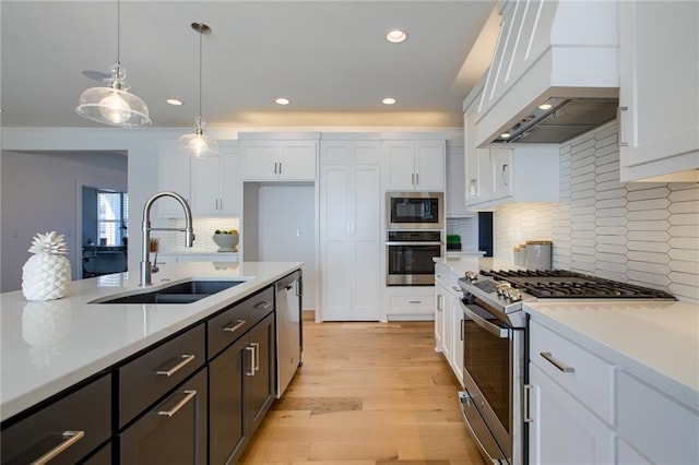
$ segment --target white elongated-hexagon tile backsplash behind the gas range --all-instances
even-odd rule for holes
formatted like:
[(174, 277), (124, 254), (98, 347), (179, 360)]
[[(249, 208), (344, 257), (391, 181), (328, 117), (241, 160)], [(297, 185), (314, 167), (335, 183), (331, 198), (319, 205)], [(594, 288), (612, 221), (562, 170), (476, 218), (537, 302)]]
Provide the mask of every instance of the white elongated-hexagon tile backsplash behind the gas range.
[(522, 240), (552, 240), (556, 269), (699, 303), (698, 183), (619, 182), (615, 121), (561, 145), (559, 174), (560, 203), (495, 213), (496, 258), (511, 259), (516, 229)]

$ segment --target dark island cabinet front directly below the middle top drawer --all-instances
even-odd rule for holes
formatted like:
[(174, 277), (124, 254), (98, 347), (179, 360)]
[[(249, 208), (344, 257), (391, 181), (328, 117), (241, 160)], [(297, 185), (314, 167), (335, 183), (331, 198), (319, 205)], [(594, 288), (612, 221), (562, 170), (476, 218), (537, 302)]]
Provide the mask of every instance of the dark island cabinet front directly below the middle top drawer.
[(120, 434), (123, 464), (205, 464), (206, 369)]

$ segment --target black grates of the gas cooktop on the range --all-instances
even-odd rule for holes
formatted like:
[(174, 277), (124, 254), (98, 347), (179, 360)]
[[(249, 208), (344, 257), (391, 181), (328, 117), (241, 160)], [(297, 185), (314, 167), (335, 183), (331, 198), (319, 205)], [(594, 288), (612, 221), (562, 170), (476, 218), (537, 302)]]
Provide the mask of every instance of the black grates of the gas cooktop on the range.
[(509, 283), (537, 299), (650, 299), (675, 300), (667, 293), (565, 270), (484, 271), (481, 275)]

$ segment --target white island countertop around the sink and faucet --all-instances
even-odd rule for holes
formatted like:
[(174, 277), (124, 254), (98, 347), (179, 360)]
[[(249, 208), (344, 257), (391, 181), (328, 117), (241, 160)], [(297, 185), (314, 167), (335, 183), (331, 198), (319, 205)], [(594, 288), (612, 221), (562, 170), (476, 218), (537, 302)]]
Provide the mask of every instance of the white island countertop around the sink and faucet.
[(161, 266), (147, 290), (191, 278), (247, 279), (188, 305), (88, 303), (99, 297), (143, 291), (138, 285), (138, 271), (74, 281), (69, 296), (59, 300), (27, 301), (21, 290), (0, 295), (1, 419), (114, 366), (301, 265), (198, 262)]

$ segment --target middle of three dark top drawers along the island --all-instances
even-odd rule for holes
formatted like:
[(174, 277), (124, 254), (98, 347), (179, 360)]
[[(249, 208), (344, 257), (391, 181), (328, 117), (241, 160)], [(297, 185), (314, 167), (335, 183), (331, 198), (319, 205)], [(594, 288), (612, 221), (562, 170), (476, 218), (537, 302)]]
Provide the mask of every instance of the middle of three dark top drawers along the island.
[(119, 368), (119, 428), (204, 363), (204, 339), (200, 324)]

